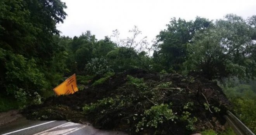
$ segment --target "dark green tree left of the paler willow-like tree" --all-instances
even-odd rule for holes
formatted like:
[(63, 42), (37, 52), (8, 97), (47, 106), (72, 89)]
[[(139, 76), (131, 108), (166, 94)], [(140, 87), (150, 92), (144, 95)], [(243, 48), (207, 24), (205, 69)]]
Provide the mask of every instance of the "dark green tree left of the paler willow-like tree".
[(192, 42), (195, 32), (201, 32), (212, 24), (208, 19), (197, 17), (195, 21), (184, 19), (171, 19), (167, 29), (157, 35), (154, 61), (162, 65), (166, 70), (179, 71), (182, 63), (186, 61), (187, 44)]

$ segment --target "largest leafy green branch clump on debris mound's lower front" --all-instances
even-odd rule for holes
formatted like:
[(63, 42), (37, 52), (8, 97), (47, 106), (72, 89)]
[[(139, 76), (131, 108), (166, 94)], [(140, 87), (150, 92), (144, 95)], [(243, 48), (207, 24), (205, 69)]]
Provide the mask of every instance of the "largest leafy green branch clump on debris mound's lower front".
[(157, 106), (152, 106), (149, 110), (145, 110), (145, 117), (143, 117), (142, 120), (138, 122), (136, 126), (136, 132), (138, 132), (139, 130), (143, 130), (143, 127), (157, 128), (160, 123), (169, 120), (174, 122), (174, 120), (177, 119), (177, 116), (168, 107), (169, 105), (167, 104), (161, 104)]

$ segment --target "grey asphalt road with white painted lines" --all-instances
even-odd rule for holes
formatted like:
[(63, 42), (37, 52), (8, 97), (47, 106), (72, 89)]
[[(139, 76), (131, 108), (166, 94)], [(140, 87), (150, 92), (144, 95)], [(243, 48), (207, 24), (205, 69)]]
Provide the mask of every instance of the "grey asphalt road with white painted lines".
[(21, 117), (0, 127), (0, 135), (126, 135), (118, 131), (99, 130), (92, 125), (66, 121), (33, 121)]

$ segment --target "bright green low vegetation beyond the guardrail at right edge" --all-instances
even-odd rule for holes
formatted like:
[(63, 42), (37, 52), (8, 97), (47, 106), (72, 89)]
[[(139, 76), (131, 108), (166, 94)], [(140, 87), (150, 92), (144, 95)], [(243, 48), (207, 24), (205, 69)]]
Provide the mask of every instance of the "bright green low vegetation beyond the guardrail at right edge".
[(223, 87), (223, 92), (227, 95), (228, 99), (233, 103), (232, 110), (236, 116), (241, 120), (249, 129), (256, 132), (256, 93), (253, 91), (252, 81), (250, 84), (233, 84), (228, 81), (228, 85)]

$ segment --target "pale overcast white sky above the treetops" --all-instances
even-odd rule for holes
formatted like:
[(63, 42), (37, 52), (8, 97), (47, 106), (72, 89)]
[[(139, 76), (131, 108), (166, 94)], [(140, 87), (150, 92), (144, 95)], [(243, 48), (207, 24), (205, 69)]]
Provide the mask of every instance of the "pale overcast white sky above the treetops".
[(61, 35), (73, 37), (90, 30), (97, 39), (118, 29), (130, 36), (134, 25), (151, 41), (173, 17), (194, 20), (196, 16), (221, 19), (233, 13), (247, 18), (256, 15), (256, 0), (62, 0), (68, 16), (57, 25)]

